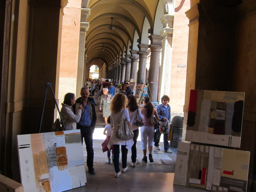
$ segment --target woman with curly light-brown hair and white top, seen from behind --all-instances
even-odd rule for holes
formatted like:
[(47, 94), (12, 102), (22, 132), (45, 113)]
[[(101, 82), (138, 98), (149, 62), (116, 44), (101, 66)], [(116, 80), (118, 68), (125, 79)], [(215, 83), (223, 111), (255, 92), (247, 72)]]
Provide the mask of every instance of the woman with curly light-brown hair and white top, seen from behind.
[(128, 110), (125, 109), (126, 107), (126, 96), (122, 93), (115, 94), (114, 98), (112, 99), (110, 110), (111, 110), (111, 126), (112, 126), (112, 134), (110, 137), (110, 141), (108, 142), (108, 148), (110, 146), (114, 146), (114, 168), (115, 168), (115, 177), (119, 177), (121, 175), (120, 168), (119, 168), (119, 154), (120, 154), (120, 146), (122, 151), (122, 172), (126, 172), (127, 167), (127, 152), (128, 149), (132, 147), (134, 144), (133, 140), (120, 140), (116, 137), (116, 126), (118, 124), (119, 118), (122, 116), (122, 112), (124, 110), (124, 117), (128, 122), (130, 129), (132, 130), (132, 125), (129, 118)]

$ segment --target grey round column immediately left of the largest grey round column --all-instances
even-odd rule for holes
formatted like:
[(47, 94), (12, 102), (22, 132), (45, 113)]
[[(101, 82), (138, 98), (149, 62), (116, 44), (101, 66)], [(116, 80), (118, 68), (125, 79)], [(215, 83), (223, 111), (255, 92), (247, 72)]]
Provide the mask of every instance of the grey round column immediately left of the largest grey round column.
[(138, 52), (140, 60), (139, 60), (139, 68), (138, 68), (138, 78), (137, 83), (145, 83), (146, 82), (146, 62), (148, 53), (148, 45), (139, 44), (138, 45), (140, 51)]

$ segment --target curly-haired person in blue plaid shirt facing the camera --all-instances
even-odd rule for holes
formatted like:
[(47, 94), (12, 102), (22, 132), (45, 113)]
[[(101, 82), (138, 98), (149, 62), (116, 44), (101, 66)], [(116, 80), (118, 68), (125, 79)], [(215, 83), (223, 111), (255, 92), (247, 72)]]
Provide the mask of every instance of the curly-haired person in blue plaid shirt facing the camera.
[[(159, 116), (159, 121), (171, 121), (171, 107), (168, 104), (170, 102), (170, 98), (167, 95), (162, 96), (161, 98), (161, 104), (157, 107), (156, 112)], [(172, 153), (169, 148), (169, 142), (168, 142), (168, 135), (169, 134), (163, 134), (164, 135), (164, 152)], [(155, 149), (160, 150), (159, 148), (159, 142), (160, 142), (161, 133), (159, 128), (156, 129), (156, 141), (155, 141)]]

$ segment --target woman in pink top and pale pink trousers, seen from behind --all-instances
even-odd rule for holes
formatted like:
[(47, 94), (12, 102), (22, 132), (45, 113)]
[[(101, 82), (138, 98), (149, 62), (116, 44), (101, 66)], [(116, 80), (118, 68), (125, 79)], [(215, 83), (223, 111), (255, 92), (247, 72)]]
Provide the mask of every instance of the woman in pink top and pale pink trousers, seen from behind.
[(143, 123), (144, 125), (140, 128), (140, 135), (141, 135), (141, 148), (143, 151), (143, 158), (142, 161), (145, 163), (148, 162), (147, 159), (147, 143), (148, 143), (148, 158), (149, 161), (152, 163), (154, 162), (152, 157), (152, 150), (154, 146), (154, 124), (151, 123), (151, 120), (153, 116), (156, 117), (157, 120), (159, 120), (158, 114), (156, 112), (156, 109), (150, 102), (150, 98), (148, 96), (143, 98), (143, 105), (144, 107), (141, 109), (141, 113), (143, 115)]

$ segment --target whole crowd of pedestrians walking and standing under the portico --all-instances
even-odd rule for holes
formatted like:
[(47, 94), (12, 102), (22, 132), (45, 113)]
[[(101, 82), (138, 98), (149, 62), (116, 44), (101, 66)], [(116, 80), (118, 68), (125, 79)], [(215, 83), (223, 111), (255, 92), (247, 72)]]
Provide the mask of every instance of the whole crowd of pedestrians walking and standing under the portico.
[[(148, 96), (143, 98), (143, 106), (140, 107), (136, 98), (133, 95), (129, 83), (122, 84), (120, 90), (115, 89), (114, 82), (106, 80), (92, 80), (86, 82), (85, 86), (81, 88), (81, 97), (76, 100), (73, 93), (67, 93), (64, 96), (62, 103), (61, 115), (66, 130), (80, 129), (81, 139), (85, 142), (87, 151), (87, 166), (88, 172), (94, 174), (93, 167), (94, 150), (93, 150), (93, 133), (96, 125), (96, 110), (94, 94), (100, 101), (100, 110), (105, 119), (105, 129), (103, 134), (106, 135), (106, 140), (102, 143), (103, 152), (107, 151), (108, 160), (110, 164), (110, 150), (112, 150), (112, 162), (114, 163), (115, 177), (121, 175), (119, 168), (120, 145), (122, 152), (122, 172), (128, 170), (127, 154), (128, 150), (132, 150), (130, 166), (136, 166), (137, 149), (136, 143), (141, 135), (141, 147), (143, 151), (142, 161), (147, 163), (154, 162), (152, 150), (160, 150), (159, 141), (161, 133), (157, 126), (152, 123), (152, 118), (158, 121), (170, 123), (171, 108), (168, 104), (170, 98), (167, 95), (162, 96), (161, 104), (155, 108)], [(116, 136), (116, 129), (121, 116), (128, 122), (128, 127), (132, 130), (134, 137), (129, 140), (121, 140)], [(138, 119), (143, 122), (143, 126), (139, 129)], [(157, 128), (155, 130), (155, 128)], [(154, 142), (155, 137), (155, 142)], [(148, 157), (147, 157), (148, 152)], [(172, 153), (169, 150), (168, 134), (164, 134), (164, 152)]]

